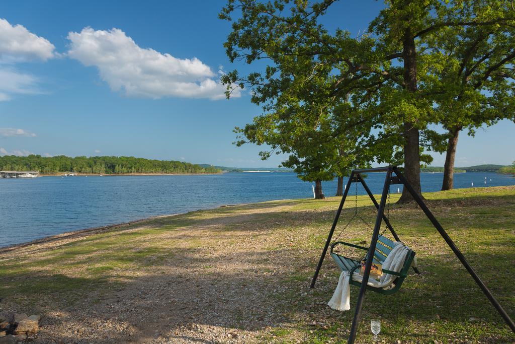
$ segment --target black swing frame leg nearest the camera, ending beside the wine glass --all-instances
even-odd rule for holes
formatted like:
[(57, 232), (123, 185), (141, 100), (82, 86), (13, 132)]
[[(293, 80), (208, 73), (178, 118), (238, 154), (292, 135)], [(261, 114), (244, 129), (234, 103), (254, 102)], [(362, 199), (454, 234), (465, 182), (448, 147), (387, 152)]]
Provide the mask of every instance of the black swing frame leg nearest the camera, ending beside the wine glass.
[[(374, 233), (372, 234), (372, 241), (370, 242), (370, 246), (368, 247), (367, 257), (369, 258), (374, 256), (375, 245), (377, 244), (377, 237), (379, 236), (379, 229), (381, 228), (381, 222), (383, 221), (384, 217), (386, 198), (388, 196), (388, 190), (390, 189), (391, 173), (392, 170), (390, 168), (386, 172), (383, 193), (381, 194), (381, 203), (379, 204), (379, 209), (377, 210), (377, 217), (375, 218)], [(354, 313), (354, 319), (352, 320), (351, 326), (351, 333), (349, 335), (349, 340), (347, 341), (349, 344), (354, 343), (354, 340), (356, 339), (357, 326), (359, 324), (359, 318), (361, 317), (361, 309), (363, 308), (363, 299), (365, 299), (365, 292), (367, 291), (368, 277), (370, 276), (372, 261), (373, 259), (367, 259), (367, 263), (365, 264), (363, 280), (361, 283), (361, 288), (359, 288), (359, 296), (357, 298), (356, 303), (356, 312)]]

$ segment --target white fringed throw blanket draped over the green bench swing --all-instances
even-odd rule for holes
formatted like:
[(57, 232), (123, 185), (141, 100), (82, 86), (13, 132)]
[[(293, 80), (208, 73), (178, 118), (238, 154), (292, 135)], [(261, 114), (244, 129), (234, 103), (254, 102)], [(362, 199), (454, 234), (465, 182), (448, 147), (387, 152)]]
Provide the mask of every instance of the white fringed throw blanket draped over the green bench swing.
[[(395, 247), (391, 250), (390, 254), (386, 257), (383, 263), (383, 269), (399, 272), (401, 271), (404, 261), (406, 260), (408, 250), (405, 249), (401, 242), (396, 242)], [(359, 269), (358, 269), (359, 270)], [(350, 306), (350, 285), (349, 285), (349, 271), (342, 271), (338, 280), (338, 286), (334, 290), (333, 297), (328, 302), (329, 307), (336, 310), (349, 310)], [(397, 278), (397, 276), (389, 273), (383, 274), (379, 280), (368, 278), (368, 285), (375, 288), (388, 289), (390, 284)], [(363, 276), (359, 271), (354, 271), (352, 279), (357, 282), (363, 281)]]

